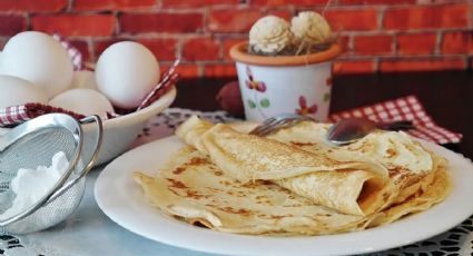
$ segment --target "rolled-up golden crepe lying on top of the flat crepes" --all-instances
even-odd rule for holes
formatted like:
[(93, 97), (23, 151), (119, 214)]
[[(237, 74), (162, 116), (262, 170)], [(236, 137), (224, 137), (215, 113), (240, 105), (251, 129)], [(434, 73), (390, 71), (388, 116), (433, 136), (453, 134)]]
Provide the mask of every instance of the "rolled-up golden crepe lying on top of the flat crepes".
[(184, 122), (176, 135), (239, 183), (270, 181), (343, 214), (373, 214), (398, 194), (387, 170), (377, 164), (334, 160), (197, 117)]

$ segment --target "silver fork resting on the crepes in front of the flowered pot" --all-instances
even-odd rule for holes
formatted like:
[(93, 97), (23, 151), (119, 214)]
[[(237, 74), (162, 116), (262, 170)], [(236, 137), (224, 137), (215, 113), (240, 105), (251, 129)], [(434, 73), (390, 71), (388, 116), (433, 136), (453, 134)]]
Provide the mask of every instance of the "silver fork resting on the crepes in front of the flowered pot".
[(262, 125), (255, 127), (250, 135), (267, 136), (280, 129), (293, 127), (302, 121), (315, 121), (314, 119), (299, 116), (296, 114), (279, 114), (263, 121)]

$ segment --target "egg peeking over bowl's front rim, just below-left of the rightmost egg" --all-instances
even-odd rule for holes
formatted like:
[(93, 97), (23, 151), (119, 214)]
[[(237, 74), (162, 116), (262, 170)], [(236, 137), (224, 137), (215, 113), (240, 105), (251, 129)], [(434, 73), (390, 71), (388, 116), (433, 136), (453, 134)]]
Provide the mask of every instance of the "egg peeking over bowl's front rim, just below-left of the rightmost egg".
[(63, 91), (51, 99), (49, 105), (85, 116), (99, 115), (100, 117), (107, 117), (107, 112), (114, 112), (114, 107), (107, 97), (87, 88)]

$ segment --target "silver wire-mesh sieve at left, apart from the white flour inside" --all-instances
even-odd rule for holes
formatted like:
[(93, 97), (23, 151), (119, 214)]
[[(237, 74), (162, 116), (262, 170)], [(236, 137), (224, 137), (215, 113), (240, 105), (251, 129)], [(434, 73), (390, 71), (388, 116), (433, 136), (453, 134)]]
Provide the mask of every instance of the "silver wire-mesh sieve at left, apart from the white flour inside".
[[(81, 147), (83, 138), (80, 132), (77, 132), (77, 128), (80, 129), (79, 122), (75, 120), (67, 122), (57, 117), (52, 117), (51, 120), (55, 124), (52, 126), (35, 127), (32, 129), (23, 127), (24, 130), (28, 129), (26, 135), (20, 136), (3, 151), (0, 151), (0, 214), (12, 206), (16, 194), (11, 189), (11, 181), (20, 168), (36, 171), (38, 166), (49, 167), (51, 166), (52, 157), (62, 151), (69, 160), (69, 165), (73, 165), (70, 166), (73, 168), (72, 173), (61, 187), (63, 193), (51, 197), (26, 217), (11, 224), (3, 224), (3, 226), (0, 226), (0, 232), (2, 233), (27, 234), (51, 227), (72, 214), (81, 201), (86, 184), (85, 174), (93, 164), (101, 142), (101, 121), (96, 116), (87, 120), (96, 121), (98, 129), (96, 149), (92, 150), (91, 156), (90, 154), (85, 156), (87, 154), (83, 154)], [(79, 156), (77, 163), (72, 160), (76, 159), (76, 156)], [(77, 183), (75, 183), (76, 179)], [(57, 183), (58, 180), (53, 181)], [(68, 187), (69, 181), (73, 184), (70, 187)], [(20, 189), (29, 188), (21, 187)], [(58, 190), (61, 189), (59, 188)]]

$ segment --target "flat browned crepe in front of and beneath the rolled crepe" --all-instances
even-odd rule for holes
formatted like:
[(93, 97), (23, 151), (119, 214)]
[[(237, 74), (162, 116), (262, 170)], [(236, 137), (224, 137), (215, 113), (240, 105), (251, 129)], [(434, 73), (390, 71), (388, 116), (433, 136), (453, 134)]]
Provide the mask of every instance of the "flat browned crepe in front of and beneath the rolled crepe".
[[(444, 168), (433, 183), (400, 204), (367, 216), (346, 215), (266, 180), (240, 183), (190, 147), (176, 152), (156, 176), (135, 173), (147, 201), (179, 220), (218, 232), (295, 236), (361, 230), (430, 208), (447, 195)], [(149, 225), (152, 225), (150, 223)]]

